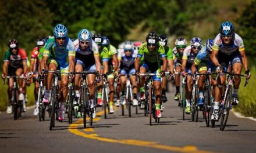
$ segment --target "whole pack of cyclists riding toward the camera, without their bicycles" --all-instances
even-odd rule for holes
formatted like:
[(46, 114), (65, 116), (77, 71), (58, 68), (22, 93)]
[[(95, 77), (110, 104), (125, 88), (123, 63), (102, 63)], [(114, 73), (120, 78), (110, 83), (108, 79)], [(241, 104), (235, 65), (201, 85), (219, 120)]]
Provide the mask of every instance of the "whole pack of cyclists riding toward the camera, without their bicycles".
[[(26, 80), (42, 74), (42, 70), (62, 72), (59, 82), (59, 121), (65, 116), (65, 103), (67, 99), (68, 83), (74, 83), (74, 105), (79, 103), (81, 97), (81, 74), (76, 72), (90, 71), (95, 74), (87, 75), (90, 108), (102, 105), (102, 86), (108, 83), (109, 87), (109, 113), (115, 112), (115, 107), (124, 105), (127, 75), (130, 76), (134, 106), (145, 107), (145, 82), (147, 77), (141, 74), (152, 72), (152, 86), (154, 87), (155, 110), (157, 118), (161, 118), (163, 103), (166, 97), (166, 83), (174, 81), (176, 93), (174, 100), (180, 99), (180, 77), (186, 77), (186, 110), (191, 111), (191, 91), (196, 73), (217, 72), (211, 75), (211, 85), (214, 98), (214, 113), (212, 119), (218, 120), (219, 107), (225, 91), (226, 74), (231, 71), (241, 74), (244, 66), (246, 78), (251, 73), (248, 69), (248, 60), (243, 39), (234, 32), (234, 25), (225, 21), (219, 27), (219, 34), (215, 39), (208, 39), (205, 44), (198, 37), (193, 37), (190, 44), (184, 38), (177, 38), (175, 48), (168, 46), (166, 35), (157, 35), (150, 32), (144, 42), (126, 41), (116, 49), (111, 41), (101, 34), (92, 35), (83, 28), (79, 31), (77, 39), (67, 37), (65, 25), (58, 24), (54, 27), (53, 36), (37, 40), (37, 47), (31, 52), (30, 66), (27, 64), (27, 54), (16, 39), (8, 42), (9, 49), (5, 52), (2, 79), (7, 76), (23, 76), (18, 81), (19, 100), (25, 101)], [(166, 75), (168, 72), (169, 75)], [(98, 75), (97, 75), (98, 74)], [(51, 86), (54, 73), (48, 72), (44, 78), (45, 93), (42, 99), (44, 105), (49, 105)], [(118, 79), (116, 79), (118, 78)], [(198, 78), (198, 106), (204, 105), (204, 75)], [(116, 89), (115, 89), (116, 82)], [(238, 90), (240, 77), (234, 77), (233, 105), (239, 103)], [(13, 78), (8, 79), (8, 108), (6, 112), (12, 114)], [(34, 115), (38, 115), (38, 82), (35, 82)], [(114, 96), (116, 93), (116, 101)], [(221, 104), (220, 104), (221, 103)], [(180, 105), (180, 103), (179, 103)], [(26, 111), (26, 103), (23, 103)]]

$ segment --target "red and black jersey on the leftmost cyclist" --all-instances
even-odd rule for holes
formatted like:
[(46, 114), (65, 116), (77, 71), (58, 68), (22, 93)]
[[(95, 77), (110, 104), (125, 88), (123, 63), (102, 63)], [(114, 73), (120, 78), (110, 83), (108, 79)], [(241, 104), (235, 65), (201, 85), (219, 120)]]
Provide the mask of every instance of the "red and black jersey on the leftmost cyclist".
[(4, 62), (8, 62), (11, 67), (17, 68), (23, 65), (22, 61), (27, 61), (27, 53), (20, 48), (17, 54), (10, 54), (10, 51), (5, 52)]

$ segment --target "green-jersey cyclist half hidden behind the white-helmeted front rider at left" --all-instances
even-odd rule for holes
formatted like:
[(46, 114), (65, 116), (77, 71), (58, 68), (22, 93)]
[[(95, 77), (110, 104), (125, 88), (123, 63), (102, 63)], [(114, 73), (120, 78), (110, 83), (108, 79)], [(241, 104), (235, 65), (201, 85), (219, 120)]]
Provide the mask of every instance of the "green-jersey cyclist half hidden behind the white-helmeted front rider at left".
[[(103, 42), (103, 39), (101, 37), (100, 34), (97, 34), (97, 35), (94, 35), (93, 36), (93, 41), (95, 43), (97, 43), (98, 45), (98, 51), (99, 51), (99, 58), (101, 60), (101, 74), (103, 74), (104, 76), (104, 81), (106, 82), (106, 74), (108, 72), (108, 61), (109, 61), (109, 54), (108, 54), (108, 48), (106, 48), (105, 46), (102, 46), (102, 42)], [(102, 78), (102, 77), (101, 77)], [(102, 103), (102, 86), (103, 86), (103, 81), (97, 83), (97, 86), (98, 86), (98, 103), (97, 105), (98, 106), (101, 106), (103, 103)]]

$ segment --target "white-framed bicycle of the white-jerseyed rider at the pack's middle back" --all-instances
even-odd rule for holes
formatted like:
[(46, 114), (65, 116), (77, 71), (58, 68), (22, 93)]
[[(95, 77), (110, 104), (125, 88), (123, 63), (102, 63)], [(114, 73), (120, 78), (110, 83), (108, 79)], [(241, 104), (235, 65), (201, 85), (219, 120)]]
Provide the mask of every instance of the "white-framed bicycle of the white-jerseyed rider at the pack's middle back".
[[(128, 108), (128, 113), (129, 113), (129, 117), (131, 117), (131, 101), (133, 101), (133, 89), (132, 89), (132, 85), (131, 85), (131, 81), (130, 81), (130, 74), (126, 74), (126, 75), (120, 75), (120, 76), (125, 76), (126, 77), (126, 106)], [(138, 113), (138, 108), (136, 105), (136, 114)], [(124, 105), (122, 104), (122, 115), (125, 115), (125, 108)]]

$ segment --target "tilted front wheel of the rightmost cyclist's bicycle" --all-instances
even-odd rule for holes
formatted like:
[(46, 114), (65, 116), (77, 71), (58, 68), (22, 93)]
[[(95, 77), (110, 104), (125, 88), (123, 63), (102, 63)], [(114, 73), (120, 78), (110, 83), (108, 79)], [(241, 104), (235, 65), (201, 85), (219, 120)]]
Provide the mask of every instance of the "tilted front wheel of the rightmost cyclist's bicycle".
[(224, 100), (224, 106), (221, 111), (221, 127), (220, 130), (223, 131), (225, 129), (227, 118), (229, 118), (229, 110), (232, 103), (232, 92), (231, 89), (227, 89), (227, 93)]

